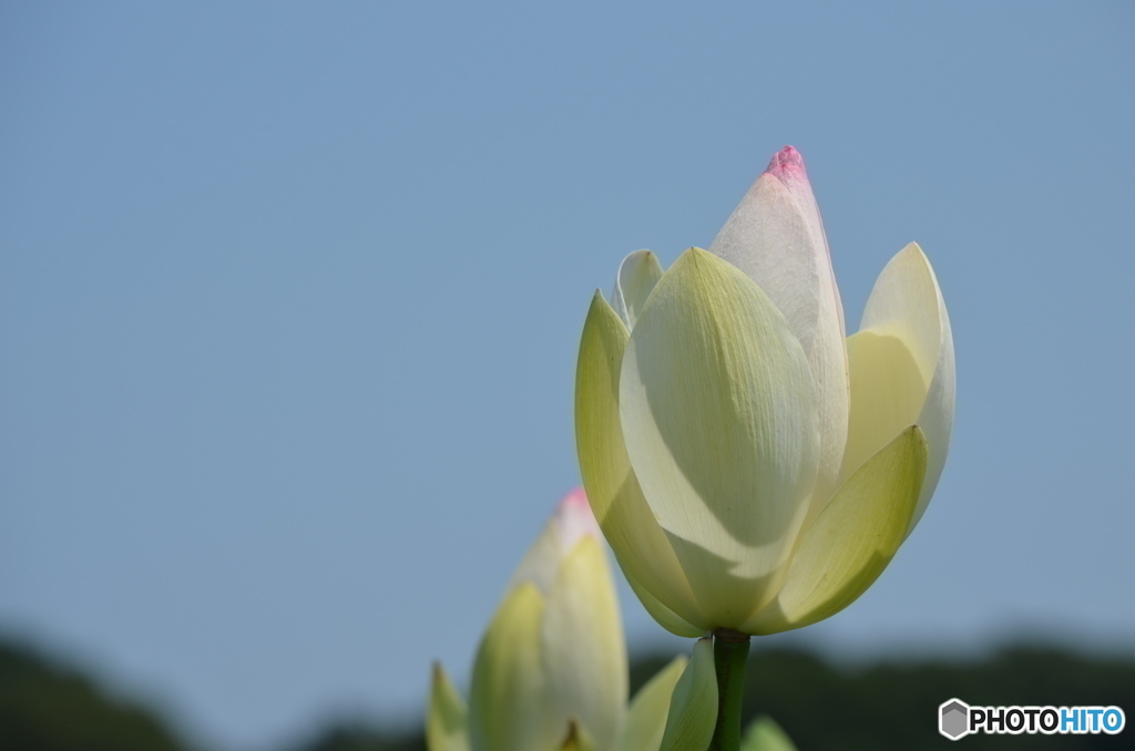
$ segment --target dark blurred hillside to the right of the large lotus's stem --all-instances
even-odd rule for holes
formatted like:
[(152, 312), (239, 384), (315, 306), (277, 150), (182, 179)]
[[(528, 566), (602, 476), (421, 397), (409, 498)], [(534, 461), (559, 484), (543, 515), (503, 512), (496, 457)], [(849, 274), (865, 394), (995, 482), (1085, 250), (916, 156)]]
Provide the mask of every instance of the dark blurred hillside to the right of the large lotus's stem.
[[(645, 680), (665, 660), (636, 664)], [(763, 651), (748, 667), (748, 717), (776, 719), (800, 751), (1107, 751), (1135, 749), (1135, 658), (1090, 658), (1043, 647), (1003, 649), (975, 660), (910, 660), (840, 668), (796, 650)], [(1128, 716), (1119, 735), (967, 735), (938, 733), (939, 704), (958, 698), (982, 706), (1116, 704)]]

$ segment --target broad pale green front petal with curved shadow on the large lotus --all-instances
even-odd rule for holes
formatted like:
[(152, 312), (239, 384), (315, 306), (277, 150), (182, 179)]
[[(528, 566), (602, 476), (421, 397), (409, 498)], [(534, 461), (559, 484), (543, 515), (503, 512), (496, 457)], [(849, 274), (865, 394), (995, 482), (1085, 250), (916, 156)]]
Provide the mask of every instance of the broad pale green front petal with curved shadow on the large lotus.
[(739, 626), (779, 583), (816, 481), (800, 343), (751, 279), (691, 248), (631, 332), (619, 410), (634, 475), (709, 625)]

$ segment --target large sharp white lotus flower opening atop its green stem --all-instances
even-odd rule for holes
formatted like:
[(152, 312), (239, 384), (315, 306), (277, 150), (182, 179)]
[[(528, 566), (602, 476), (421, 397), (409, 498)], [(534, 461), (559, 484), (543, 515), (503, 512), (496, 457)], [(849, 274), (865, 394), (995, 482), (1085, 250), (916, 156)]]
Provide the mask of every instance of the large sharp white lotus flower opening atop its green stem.
[(922, 517), (953, 421), (953, 340), (908, 245), (846, 337), (804, 162), (777, 153), (709, 252), (648, 251), (596, 294), (575, 391), (591, 507), (678, 634), (826, 618)]

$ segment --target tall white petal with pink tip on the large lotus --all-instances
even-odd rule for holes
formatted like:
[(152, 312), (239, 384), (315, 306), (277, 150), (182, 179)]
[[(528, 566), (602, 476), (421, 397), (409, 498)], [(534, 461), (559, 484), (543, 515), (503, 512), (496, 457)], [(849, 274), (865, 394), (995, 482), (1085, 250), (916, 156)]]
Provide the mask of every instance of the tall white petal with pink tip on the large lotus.
[(773, 157), (709, 251), (765, 290), (808, 356), (821, 430), (815, 514), (838, 484), (849, 396), (843, 305), (819, 208), (796, 149)]

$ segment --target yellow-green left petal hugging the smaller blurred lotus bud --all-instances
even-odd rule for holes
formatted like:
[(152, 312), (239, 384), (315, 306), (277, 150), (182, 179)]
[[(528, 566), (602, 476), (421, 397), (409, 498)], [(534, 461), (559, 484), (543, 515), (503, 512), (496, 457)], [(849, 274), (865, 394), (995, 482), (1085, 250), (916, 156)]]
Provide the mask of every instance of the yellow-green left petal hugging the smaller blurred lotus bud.
[(535, 584), (512, 590), (493, 617), (473, 665), (469, 727), (473, 751), (552, 749), (564, 736), (547, 711), (540, 659), (544, 598)]

